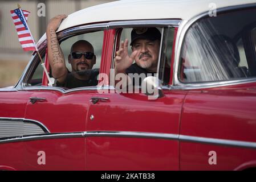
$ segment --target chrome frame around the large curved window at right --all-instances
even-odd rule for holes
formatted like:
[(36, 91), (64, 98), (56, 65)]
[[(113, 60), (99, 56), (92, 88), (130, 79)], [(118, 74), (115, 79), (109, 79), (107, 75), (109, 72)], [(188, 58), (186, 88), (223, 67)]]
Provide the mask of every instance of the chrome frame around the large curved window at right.
[[(239, 9), (245, 9), (249, 7), (256, 7), (256, 3), (251, 3), (248, 5), (237, 5), (237, 6), (231, 6), (231, 7), (222, 7), (220, 9), (217, 9), (217, 15), (218, 13), (223, 13), (224, 11), (235, 11)], [(200, 15), (197, 15), (193, 17), (190, 20), (183, 20), (178, 28), (177, 32), (177, 40), (175, 45), (175, 55), (174, 55), (174, 65), (173, 65), (173, 89), (182, 89), (182, 90), (188, 90), (188, 89), (201, 89), (201, 88), (214, 88), (219, 86), (229, 86), (229, 85), (236, 85), (236, 84), (246, 84), (249, 82), (255, 82), (256, 77), (254, 78), (240, 78), (238, 80), (229, 80), (229, 81), (214, 81), (214, 82), (197, 82), (197, 83), (182, 83), (178, 79), (178, 65), (180, 62), (180, 53), (181, 53), (181, 47), (185, 39), (185, 34), (188, 32), (189, 28), (197, 22), (197, 20), (204, 18), (205, 16), (208, 16), (209, 12), (202, 13)]]

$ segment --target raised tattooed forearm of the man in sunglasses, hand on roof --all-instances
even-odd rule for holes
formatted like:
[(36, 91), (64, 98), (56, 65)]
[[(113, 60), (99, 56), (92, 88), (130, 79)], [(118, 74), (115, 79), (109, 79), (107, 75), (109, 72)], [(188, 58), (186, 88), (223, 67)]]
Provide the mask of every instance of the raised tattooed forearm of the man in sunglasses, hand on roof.
[(66, 17), (66, 15), (55, 16), (48, 23), (46, 30), (48, 60), (51, 66), (52, 76), (56, 78), (60, 83), (64, 82), (68, 72), (64, 60), (64, 55), (62, 49), (59, 46), (55, 31), (59, 27), (61, 20)]

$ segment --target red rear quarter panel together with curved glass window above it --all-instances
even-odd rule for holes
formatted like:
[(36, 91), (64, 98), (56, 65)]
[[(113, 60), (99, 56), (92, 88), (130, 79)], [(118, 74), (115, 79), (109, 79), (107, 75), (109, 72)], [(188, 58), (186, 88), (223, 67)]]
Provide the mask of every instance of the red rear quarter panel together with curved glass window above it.
[(198, 20), (186, 33), (177, 80), (189, 90), (181, 117), (182, 170), (256, 166), (253, 14), (255, 7), (223, 11)]

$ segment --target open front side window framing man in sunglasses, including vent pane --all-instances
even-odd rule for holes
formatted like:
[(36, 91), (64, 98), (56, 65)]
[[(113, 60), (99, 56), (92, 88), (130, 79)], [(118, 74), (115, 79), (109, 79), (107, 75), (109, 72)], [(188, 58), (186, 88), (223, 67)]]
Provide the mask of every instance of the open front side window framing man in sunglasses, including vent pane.
[[(83, 50), (79, 49), (79, 47), (76, 49), (72, 48), (71, 50), (71, 47), (74, 43), (81, 41), (90, 43), (93, 49), (87, 52), (83, 52)], [(53, 86), (61, 87), (64, 89), (96, 86), (98, 82), (97, 76), (99, 75), (102, 47), (103, 31), (88, 32), (86, 34), (72, 36), (60, 42), (60, 48), (62, 49), (66, 67), (68, 69), (68, 76), (66, 79), (68, 80), (68, 83), (66, 84), (66, 82), (64, 82), (63, 84), (58, 85), (58, 81), (55, 80), (55, 84)], [(45, 55), (42, 54), (41, 56), (44, 62)], [(76, 61), (72, 62), (74, 59), (76, 59)], [(91, 60), (95, 60), (94, 64), (92, 64), (92, 67), (88, 65)], [(52, 77), (51, 68), (49, 72), (50, 77)], [(71, 77), (71, 79), (69, 79), (69, 77)], [(78, 79), (76, 79), (76, 77), (78, 77)], [(41, 86), (42, 78), (43, 67), (40, 64), (38, 57), (30, 65), (27, 76), (25, 77), (24, 85)]]

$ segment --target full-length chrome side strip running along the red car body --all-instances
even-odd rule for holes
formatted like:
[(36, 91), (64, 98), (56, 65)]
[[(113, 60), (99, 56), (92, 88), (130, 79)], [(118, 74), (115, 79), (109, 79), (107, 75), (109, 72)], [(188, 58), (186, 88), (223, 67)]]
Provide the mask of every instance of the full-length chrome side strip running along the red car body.
[(177, 140), (177, 142), (193, 142), (193, 143), (202, 143), (202, 144), (215, 144), (218, 146), (244, 147), (244, 148), (256, 149), (256, 142), (208, 138), (208, 137), (194, 137), (191, 135), (149, 133), (149, 132), (135, 132), (135, 131), (81, 131), (81, 132), (72, 132), (72, 133), (46, 133), (46, 134), (24, 135), (24, 136), (0, 138), (0, 144), (10, 143), (10, 142), (22, 142), (22, 141), (28, 141), (28, 140), (40, 140), (40, 139), (84, 138), (84, 137), (153, 138), (153, 139)]

